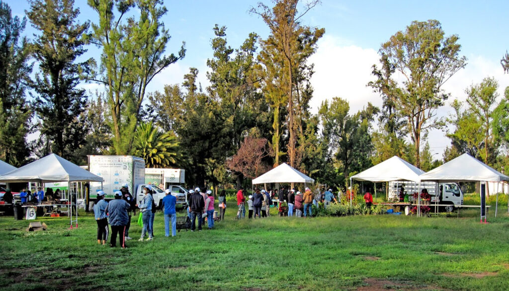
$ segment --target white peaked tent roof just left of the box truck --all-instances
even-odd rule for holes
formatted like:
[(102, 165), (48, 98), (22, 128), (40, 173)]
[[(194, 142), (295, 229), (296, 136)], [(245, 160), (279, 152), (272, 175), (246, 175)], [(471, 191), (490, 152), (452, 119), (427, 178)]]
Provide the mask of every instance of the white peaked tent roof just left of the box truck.
[(62, 182), (62, 181), (95, 181), (103, 179), (79, 166), (50, 154), (35, 162), (24, 165), (18, 169), (0, 176), (2, 182)]

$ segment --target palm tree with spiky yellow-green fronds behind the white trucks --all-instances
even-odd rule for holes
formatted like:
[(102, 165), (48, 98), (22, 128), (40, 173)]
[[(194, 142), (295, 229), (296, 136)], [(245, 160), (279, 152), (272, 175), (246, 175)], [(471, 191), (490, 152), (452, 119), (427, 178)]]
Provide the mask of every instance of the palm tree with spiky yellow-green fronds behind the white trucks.
[(152, 122), (137, 126), (133, 155), (143, 158), (150, 168), (176, 166), (182, 161), (177, 136), (173, 132), (162, 132)]

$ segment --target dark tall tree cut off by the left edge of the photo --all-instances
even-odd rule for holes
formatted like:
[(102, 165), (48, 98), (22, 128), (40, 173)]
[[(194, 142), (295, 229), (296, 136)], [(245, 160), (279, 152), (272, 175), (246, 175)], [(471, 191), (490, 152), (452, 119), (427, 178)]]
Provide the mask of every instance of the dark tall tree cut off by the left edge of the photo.
[(11, 8), (0, 1), (0, 159), (21, 166), (30, 156), (26, 135), (32, 110), (25, 94), (30, 85), (28, 42), (22, 37), (26, 19), (12, 17)]

